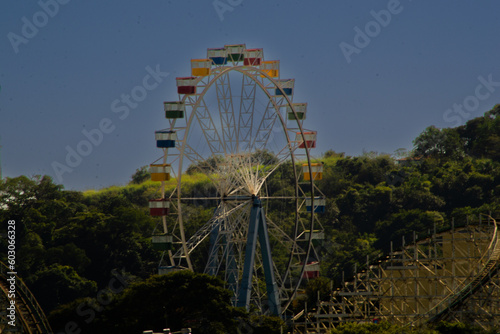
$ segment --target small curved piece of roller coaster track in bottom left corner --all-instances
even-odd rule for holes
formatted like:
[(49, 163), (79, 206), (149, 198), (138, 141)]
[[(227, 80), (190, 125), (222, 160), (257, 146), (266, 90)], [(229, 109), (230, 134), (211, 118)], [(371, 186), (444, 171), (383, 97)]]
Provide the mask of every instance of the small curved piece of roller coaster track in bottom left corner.
[[(2, 323), (0, 324), (0, 333), (29, 333), (29, 334), (52, 334), (52, 329), (50, 324), (43, 313), (42, 308), (36, 301), (35, 297), (28, 289), (26, 284), (17, 275), (8, 274), (10, 272), (9, 268), (0, 262), (0, 288), (2, 290), (2, 311), (0, 318)], [(16, 326), (10, 326), (5, 323), (6, 308), (8, 302), (7, 295), (9, 294), (10, 283), (7, 281), (8, 278), (15, 276), (15, 301), (16, 301)], [(7, 319), (8, 321), (8, 319)]]

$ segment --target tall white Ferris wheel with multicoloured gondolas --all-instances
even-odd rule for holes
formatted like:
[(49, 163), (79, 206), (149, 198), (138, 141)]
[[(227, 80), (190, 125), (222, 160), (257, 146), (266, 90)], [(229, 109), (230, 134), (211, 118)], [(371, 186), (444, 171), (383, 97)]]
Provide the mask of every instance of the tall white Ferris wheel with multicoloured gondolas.
[[(282, 315), (319, 275), (324, 237), (323, 165), (309, 153), (307, 103), (293, 102), (295, 80), (280, 79), (279, 61), (244, 44), (208, 49), (176, 81), (178, 100), (164, 102), (169, 126), (155, 132), (163, 154), (150, 165), (161, 181), (149, 204), (161, 217), (159, 273), (219, 276), (235, 306)], [(193, 176), (206, 186), (188, 193), (183, 179)], [(209, 210), (201, 225), (196, 206)]]

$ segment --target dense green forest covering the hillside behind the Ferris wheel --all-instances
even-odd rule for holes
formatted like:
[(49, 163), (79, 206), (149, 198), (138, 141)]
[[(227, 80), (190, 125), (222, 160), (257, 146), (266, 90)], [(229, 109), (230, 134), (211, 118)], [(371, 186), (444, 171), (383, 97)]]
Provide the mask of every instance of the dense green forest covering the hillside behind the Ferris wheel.
[[(343, 272), (348, 276), (367, 256), (380, 256), (389, 241), (413, 231), (426, 233), (452, 219), (462, 224), (481, 213), (500, 218), (500, 105), (456, 128), (428, 127), (411, 151), (351, 157), (330, 150), (318, 160), (324, 163), (318, 186), (327, 198), (320, 218), (327, 237), (320, 248), (323, 281), (338, 284)], [(285, 175), (288, 167), (277, 173)], [(183, 176), (183, 191), (215, 191), (198, 170)], [(149, 215), (148, 200), (157, 191), (146, 168), (138, 168), (125, 186), (84, 192), (64, 190), (48, 176), (0, 181), (0, 220), (17, 224), (18, 274), (53, 329), (64, 331), (73, 321), (84, 333), (186, 324), (198, 333), (236, 333), (248, 326), (254, 333), (279, 333), (279, 319), (231, 307), (217, 278), (155, 275), (161, 253), (151, 245), (157, 220)], [(193, 204), (191, 210), (196, 228), (213, 208)], [(5, 224), (1, 229), (6, 249)], [(453, 326), (459, 329), (441, 324), (432, 330), (447, 333)]]

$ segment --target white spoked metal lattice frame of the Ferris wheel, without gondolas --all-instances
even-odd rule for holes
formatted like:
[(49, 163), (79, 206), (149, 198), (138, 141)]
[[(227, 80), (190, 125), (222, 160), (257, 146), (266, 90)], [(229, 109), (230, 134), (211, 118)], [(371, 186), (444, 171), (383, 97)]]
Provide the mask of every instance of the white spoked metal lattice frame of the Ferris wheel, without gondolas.
[[(236, 81), (238, 76), (241, 77), (241, 82)], [(235, 82), (238, 83), (235, 85)], [(195, 86), (195, 94), (179, 95), (179, 100), (185, 105), (186, 117), (169, 120), (168, 130), (177, 134), (177, 147), (164, 149), (163, 163), (176, 166), (174, 177), (177, 179), (177, 187), (171, 193), (166, 193), (163, 183), (161, 192), (162, 198), (170, 198), (171, 213), (176, 219), (164, 216), (162, 221), (163, 232), (172, 234), (174, 244), (179, 247), (164, 254), (164, 263), (172, 270), (194, 270), (191, 261), (193, 252), (205, 240), (210, 240), (205, 272), (215, 275), (222, 273), (227, 287), (234, 293), (233, 301), (237, 304), (252, 201), (254, 197), (258, 197), (262, 201), (272, 247), (281, 247), (289, 253), (285, 267), (278, 268), (275, 263), (271, 264), (279, 287), (281, 309), (285, 312), (301, 285), (309, 255), (316, 254), (312, 233), (308, 240), (298, 242), (297, 238), (305, 230), (313, 231), (315, 226), (321, 229), (314, 212), (306, 212), (304, 205), (306, 197), (309, 197), (312, 198), (314, 207), (314, 193), (318, 194), (319, 190), (313, 180), (309, 182), (307, 191), (300, 186), (301, 173), (297, 163), (307, 162), (311, 168), (311, 159), (308, 145), (301, 147), (301, 143), (306, 140), (306, 130), (293, 108), (293, 94), (285, 94), (277, 79), (260, 66), (242, 66), (235, 61), (226, 65), (213, 64), (208, 75), (196, 78)], [(277, 94), (277, 91), (281, 94)], [(293, 111), (295, 121), (287, 120), (287, 106)], [(195, 129), (202, 136), (203, 146), (198, 145), (200, 137), (194, 135)], [(298, 139), (297, 133), (301, 134)], [(279, 144), (276, 136), (281, 140)], [(274, 153), (278, 159), (277, 164), (265, 166), (250, 161), (250, 154), (264, 149)], [(207, 173), (218, 194), (182, 194), (182, 173), (186, 166), (200, 164), (208, 157), (222, 158)], [(293, 168), (295, 180), (293, 194), (268, 196), (266, 179), (288, 162)], [(244, 176), (245, 173), (248, 175)], [(252, 173), (255, 175), (251, 175)], [(249, 190), (250, 188), (253, 190)], [(202, 203), (216, 201), (218, 204), (213, 217), (194, 234), (187, 235), (184, 205), (194, 200)], [(283, 205), (290, 211), (289, 215), (294, 219), (292, 230), (283, 230), (279, 221), (266, 215), (268, 207), (276, 204)], [(267, 293), (261, 287), (259, 276), (266, 263), (259, 255), (259, 245), (256, 254), (250, 299), (257, 309), (264, 311), (267, 308)]]

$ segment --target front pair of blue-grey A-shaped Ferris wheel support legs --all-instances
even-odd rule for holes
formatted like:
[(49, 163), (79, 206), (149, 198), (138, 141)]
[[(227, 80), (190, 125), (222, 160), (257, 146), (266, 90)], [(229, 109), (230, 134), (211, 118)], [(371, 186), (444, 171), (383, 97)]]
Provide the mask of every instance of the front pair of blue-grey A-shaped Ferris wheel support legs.
[(245, 264), (243, 267), (243, 277), (238, 295), (238, 302), (236, 304), (236, 306), (245, 307), (247, 310), (250, 306), (252, 292), (252, 275), (255, 262), (255, 249), (257, 247), (257, 236), (260, 239), (260, 248), (262, 251), (262, 262), (264, 266), (264, 274), (266, 276), (269, 310), (272, 314), (279, 315), (281, 313), (280, 302), (278, 287), (274, 277), (267, 224), (264, 211), (262, 210), (262, 203), (260, 199), (256, 197), (250, 212), (250, 222), (248, 226), (247, 244), (245, 249)]

